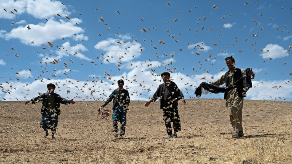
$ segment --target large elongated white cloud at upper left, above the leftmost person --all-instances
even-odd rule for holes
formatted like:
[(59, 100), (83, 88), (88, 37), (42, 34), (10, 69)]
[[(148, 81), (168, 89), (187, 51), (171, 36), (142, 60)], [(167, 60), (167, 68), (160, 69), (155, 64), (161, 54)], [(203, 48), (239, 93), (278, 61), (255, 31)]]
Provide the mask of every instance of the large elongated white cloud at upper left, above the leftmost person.
[[(18, 28), (12, 29), (9, 33), (5, 34), (5, 39), (17, 38), (26, 45), (40, 46), (41, 44), (47, 44), (47, 42), (53, 42), (62, 37), (72, 37), (75, 33), (79, 34), (84, 32), (81, 27), (77, 27), (72, 22), (65, 22), (63, 20), (56, 22), (49, 19), (44, 25), (30, 24), (31, 30), (28, 30), (27, 26), (19, 26)], [(34, 40), (34, 44), (31, 44), (32, 40)]]

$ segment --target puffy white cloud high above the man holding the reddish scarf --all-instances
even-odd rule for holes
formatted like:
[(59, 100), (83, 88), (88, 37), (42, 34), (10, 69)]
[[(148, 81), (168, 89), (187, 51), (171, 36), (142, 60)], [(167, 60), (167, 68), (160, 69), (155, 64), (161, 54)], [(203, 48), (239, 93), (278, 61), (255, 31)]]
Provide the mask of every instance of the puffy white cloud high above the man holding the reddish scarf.
[[(141, 44), (131, 42), (131, 38), (127, 35), (118, 36), (119, 38), (108, 38), (106, 40), (98, 42), (94, 48), (97, 50), (103, 50), (104, 56), (102, 56), (103, 62), (116, 63), (119, 61), (128, 62), (133, 60), (133, 56), (139, 57), (141, 55)], [(129, 40), (128, 40), (129, 39)], [(121, 44), (117, 43), (120, 42)], [(126, 43), (124, 43), (125, 41)], [(128, 48), (130, 47), (130, 48)], [(143, 48), (142, 48), (143, 49)], [(106, 56), (110, 57), (106, 57)], [(108, 61), (106, 61), (108, 60)]]

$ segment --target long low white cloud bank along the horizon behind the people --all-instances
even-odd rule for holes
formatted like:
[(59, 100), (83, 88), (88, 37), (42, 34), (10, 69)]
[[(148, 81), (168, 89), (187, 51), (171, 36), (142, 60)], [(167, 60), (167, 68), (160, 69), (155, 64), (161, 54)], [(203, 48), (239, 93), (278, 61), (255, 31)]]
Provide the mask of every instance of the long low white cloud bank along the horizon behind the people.
[[(72, 78), (66, 78), (51, 80), (42, 79), (33, 81), (31, 83), (19, 81), (12, 82), (11, 84), (3, 83), (3, 90), (9, 89), (10, 85), (12, 85), (16, 89), (10, 90), (10, 94), (5, 94), (2, 97), (4, 97), (8, 101), (15, 99), (20, 101), (29, 100), (30, 98), (36, 97), (38, 95), (38, 92), (44, 93), (46, 91), (46, 84), (56, 83), (58, 84), (56, 93), (60, 94), (64, 98), (74, 98), (77, 101), (102, 101), (105, 100), (109, 96), (109, 94), (111, 94), (111, 92), (117, 88), (117, 80), (123, 78), (125, 83), (124, 88), (128, 88), (129, 94), (131, 94), (131, 100), (148, 100), (149, 97), (152, 97), (159, 84), (162, 83), (160, 73), (165, 71), (156, 70), (153, 73), (153, 68), (157, 68), (157, 66), (160, 65), (167, 65), (168, 62), (170, 62), (170, 60), (164, 61), (164, 64), (158, 61), (137, 61), (135, 63), (132, 63), (132, 66), (130, 66), (130, 63), (128, 63), (128, 67), (131, 68), (131, 70), (128, 72), (124, 72), (116, 76), (108, 76), (105, 74), (90, 75), (91, 78), (89, 78), (89, 81), (77, 81)], [(142, 63), (142, 65), (140, 63)], [(151, 67), (150, 63), (153, 67)], [(135, 65), (137, 65), (137, 67)], [(60, 73), (62, 73), (62, 71), (64, 70), (61, 70)], [(194, 76), (174, 71), (173, 73), (171, 73), (171, 79), (173, 79), (173, 81), (177, 84), (180, 90), (182, 90), (185, 98), (189, 98), (195, 97), (195, 87), (199, 86), (201, 82), (217, 80), (223, 74), (224, 72), (219, 71), (217, 74), (203, 73), (196, 74)], [(203, 77), (206, 78), (206, 80), (202, 80)], [(276, 97), (278, 100), (283, 100), (283, 97), (291, 98), (292, 83), (288, 83), (287, 81), (288, 80), (268, 81), (263, 82), (263, 84), (260, 81), (252, 81), (253, 86), (256, 87), (250, 89), (247, 92), (247, 99), (261, 100), (265, 98), (266, 100), (274, 100), (274, 98)], [(277, 86), (278, 89), (272, 88), (273, 86)], [(148, 91), (148, 89), (150, 91)], [(67, 93), (67, 90), (69, 90), (70, 93)], [(290, 92), (287, 92), (287, 90), (290, 90)], [(218, 98), (218, 96), (223, 97), (222, 94), (212, 94), (210, 96), (213, 96), (215, 98)], [(270, 98), (270, 96), (272, 98)], [(278, 97), (281, 97), (282, 99), (279, 99)]]

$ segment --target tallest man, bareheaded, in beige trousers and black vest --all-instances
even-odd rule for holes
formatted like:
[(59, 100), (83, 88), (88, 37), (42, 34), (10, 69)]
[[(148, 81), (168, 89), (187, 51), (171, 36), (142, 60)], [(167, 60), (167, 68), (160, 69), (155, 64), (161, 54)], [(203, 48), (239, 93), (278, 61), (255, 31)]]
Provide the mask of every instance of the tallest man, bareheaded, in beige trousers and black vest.
[[(225, 58), (226, 65), (229, 70), (221, 76), (218, 80), (211, 82), (216, 86), (226, 83), (225, 86), (232, 85), (235, 81), (243, 76), (243, 69), (235, 68), (235, 60), (232, 56)], [(238, 72), (237, 72), (238, 71)], [(251, 79), (255, 78), (255, 74), (251, 70)], [(245, 97), (243, 85), (239, 84), (236, 88), (225, 92), (224, 99), (226, 99), (226, 107), (231, 113), (229, 114), (231, 125), (234, 129), (233, 138), (243, 137), (242, 127), (242, 109), (243, 97)]]

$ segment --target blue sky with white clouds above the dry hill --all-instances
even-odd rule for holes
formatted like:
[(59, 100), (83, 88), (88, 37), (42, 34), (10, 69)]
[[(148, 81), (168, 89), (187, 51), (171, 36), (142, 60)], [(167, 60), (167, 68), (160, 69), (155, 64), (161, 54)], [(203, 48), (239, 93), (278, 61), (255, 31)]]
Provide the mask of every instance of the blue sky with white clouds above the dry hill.
[(104, 100), (120, 78), (131, 100), (147, 100), (165, 71), (185, 98), (196, 98), (195, 87), (223, 75), (230, 55), (256, 74), (246, 99), (291, 101), (291, 7), (285, 0), (0, 0), (0, 101), (29, 100), (47, 83), (63, 97)]

